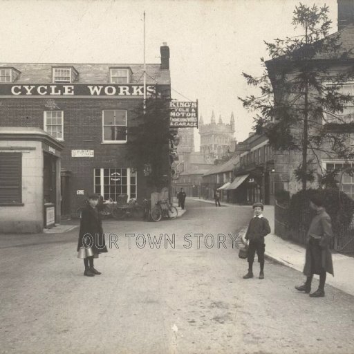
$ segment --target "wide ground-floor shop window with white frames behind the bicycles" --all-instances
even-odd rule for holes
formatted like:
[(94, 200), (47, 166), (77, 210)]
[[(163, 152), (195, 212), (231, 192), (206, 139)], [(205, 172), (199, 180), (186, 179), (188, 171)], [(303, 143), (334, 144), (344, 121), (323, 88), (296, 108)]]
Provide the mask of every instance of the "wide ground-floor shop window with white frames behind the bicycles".
[(104, 200), (112, 198), (118, 201), (120, 194), (128, 198), (137, 197), (136, 169), (95, 169), (95, 193), (101, 194)]

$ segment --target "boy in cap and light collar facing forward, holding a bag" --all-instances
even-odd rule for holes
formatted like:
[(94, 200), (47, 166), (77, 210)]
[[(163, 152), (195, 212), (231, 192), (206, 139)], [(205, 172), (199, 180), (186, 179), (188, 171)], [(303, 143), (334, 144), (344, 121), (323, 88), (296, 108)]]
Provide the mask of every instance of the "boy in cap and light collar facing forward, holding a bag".
[(248, 242), (248, 273), (243, 279), (253, 278), (253, 261), (254, 254), (257, 251), (257, 257), (260, 265), (259, 279), (264, 279), (264, 237), (270, 233), (268, 220), (263, 216), (264, 205), (262, 203), (254, 203), (254, 216), (248, 224), (245, 239)]

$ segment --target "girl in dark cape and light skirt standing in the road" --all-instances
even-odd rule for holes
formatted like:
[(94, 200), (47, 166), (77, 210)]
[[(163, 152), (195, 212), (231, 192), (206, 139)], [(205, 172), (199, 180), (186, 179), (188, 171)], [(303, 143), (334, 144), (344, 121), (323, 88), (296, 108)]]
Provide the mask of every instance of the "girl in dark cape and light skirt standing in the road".
[(93, 259), (98, 258), (98, 254), (102, 252), (108, 252), (104, 241), (101, 215), (97, 209), (99, 199), (100, 196), (97, 194), (88, 196), (87, 205), (81, 214), (77, 257), (84, 259), (86, 277), (101, 274), (93, 267)]

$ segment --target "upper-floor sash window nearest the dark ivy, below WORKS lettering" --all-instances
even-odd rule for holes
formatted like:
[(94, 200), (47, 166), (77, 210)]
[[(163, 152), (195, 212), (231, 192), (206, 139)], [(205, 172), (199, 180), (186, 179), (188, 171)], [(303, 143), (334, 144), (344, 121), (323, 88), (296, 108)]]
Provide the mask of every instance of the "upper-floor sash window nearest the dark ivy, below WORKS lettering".
[(105, 109), (102, 111), (103, 142), (127, 142), (127, 111)]

